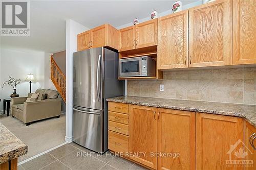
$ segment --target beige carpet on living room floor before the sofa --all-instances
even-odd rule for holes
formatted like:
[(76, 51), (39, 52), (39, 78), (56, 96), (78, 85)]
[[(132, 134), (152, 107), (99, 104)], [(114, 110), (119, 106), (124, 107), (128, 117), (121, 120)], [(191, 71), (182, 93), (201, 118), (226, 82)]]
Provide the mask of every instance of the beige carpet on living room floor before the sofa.
[(47, 151), (65, 142), (66, 116), (49, 118), (26, 126), (17, 118), (0, 115), (0, 123), (9, 129), (16, 137), (28, 145), (28, 153), (18, 158), (18, 162)]

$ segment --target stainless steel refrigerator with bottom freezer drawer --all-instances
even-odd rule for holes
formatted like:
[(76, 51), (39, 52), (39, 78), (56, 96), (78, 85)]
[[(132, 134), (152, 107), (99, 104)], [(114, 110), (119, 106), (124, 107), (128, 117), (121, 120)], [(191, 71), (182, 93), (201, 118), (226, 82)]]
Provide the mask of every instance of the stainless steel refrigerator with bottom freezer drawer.
[(104, 47), (73, 54), (73, 141), (95, 152), (108, 150), (107, 98), (124, 94), (118, 53)]

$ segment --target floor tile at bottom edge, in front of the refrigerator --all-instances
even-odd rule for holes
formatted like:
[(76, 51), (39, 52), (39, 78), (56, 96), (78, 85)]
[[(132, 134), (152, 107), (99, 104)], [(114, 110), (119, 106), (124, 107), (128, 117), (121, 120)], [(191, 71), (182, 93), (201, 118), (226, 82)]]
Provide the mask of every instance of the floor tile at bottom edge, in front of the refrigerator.
[(97, 158), (94, 157), (87, 157), (85, 160), (74, 166), (72, 169), (73, 170), (96, 170), (100, 169), (105, 165), (104, 162), (98, 160)]

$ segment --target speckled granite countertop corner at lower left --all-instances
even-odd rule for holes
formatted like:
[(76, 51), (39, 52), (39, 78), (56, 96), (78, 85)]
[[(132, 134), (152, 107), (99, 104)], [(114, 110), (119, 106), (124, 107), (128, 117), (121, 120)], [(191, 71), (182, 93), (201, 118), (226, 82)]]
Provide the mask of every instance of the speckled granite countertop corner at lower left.
[(0, 123), (0, 164), (28, 153), (28, 146)]

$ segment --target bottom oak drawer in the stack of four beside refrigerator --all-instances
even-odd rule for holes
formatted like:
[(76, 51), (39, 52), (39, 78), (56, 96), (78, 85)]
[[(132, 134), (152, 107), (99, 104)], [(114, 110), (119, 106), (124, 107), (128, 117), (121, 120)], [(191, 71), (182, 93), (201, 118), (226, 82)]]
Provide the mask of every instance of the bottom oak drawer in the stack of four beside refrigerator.
[(114, 152), (129, 152), (129, 136), (109, 131), (109, 149)]

